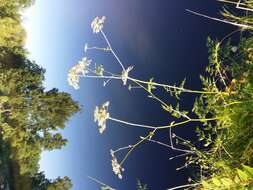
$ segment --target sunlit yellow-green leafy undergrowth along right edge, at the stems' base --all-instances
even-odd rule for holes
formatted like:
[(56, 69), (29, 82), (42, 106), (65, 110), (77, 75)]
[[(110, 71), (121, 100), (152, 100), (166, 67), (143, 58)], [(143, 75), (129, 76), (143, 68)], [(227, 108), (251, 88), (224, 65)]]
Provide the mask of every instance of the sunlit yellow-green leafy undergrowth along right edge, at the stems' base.
[(204, 122), (196, 132), (202, 142), (201, 154), (187, 163), (201, 168), (197, 189), (253, 188), (253, 48), (252, 37), (241, 37), (232, 51), (230, 41), (221, 45), (208, 38), (208, 75), (201, 76), (203, 89), (227, 94), (196, 98), (193, 112), (199, 118), (223, 117)]

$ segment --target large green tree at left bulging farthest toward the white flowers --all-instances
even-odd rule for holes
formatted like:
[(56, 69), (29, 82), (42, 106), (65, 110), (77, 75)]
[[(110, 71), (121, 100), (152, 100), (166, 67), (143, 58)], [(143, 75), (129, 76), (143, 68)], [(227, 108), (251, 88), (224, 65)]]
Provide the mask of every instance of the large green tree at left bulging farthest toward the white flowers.
[(13, 148), (20, 173), (34, 174), (42, 150), (60, 149), (67, 143), (58, 129), (79, 111), (79, 105), (65, 92), (43, 87), (45, 70), (25, 56), (19, 63), (0, 66), (0, 103), (3, 138)]

